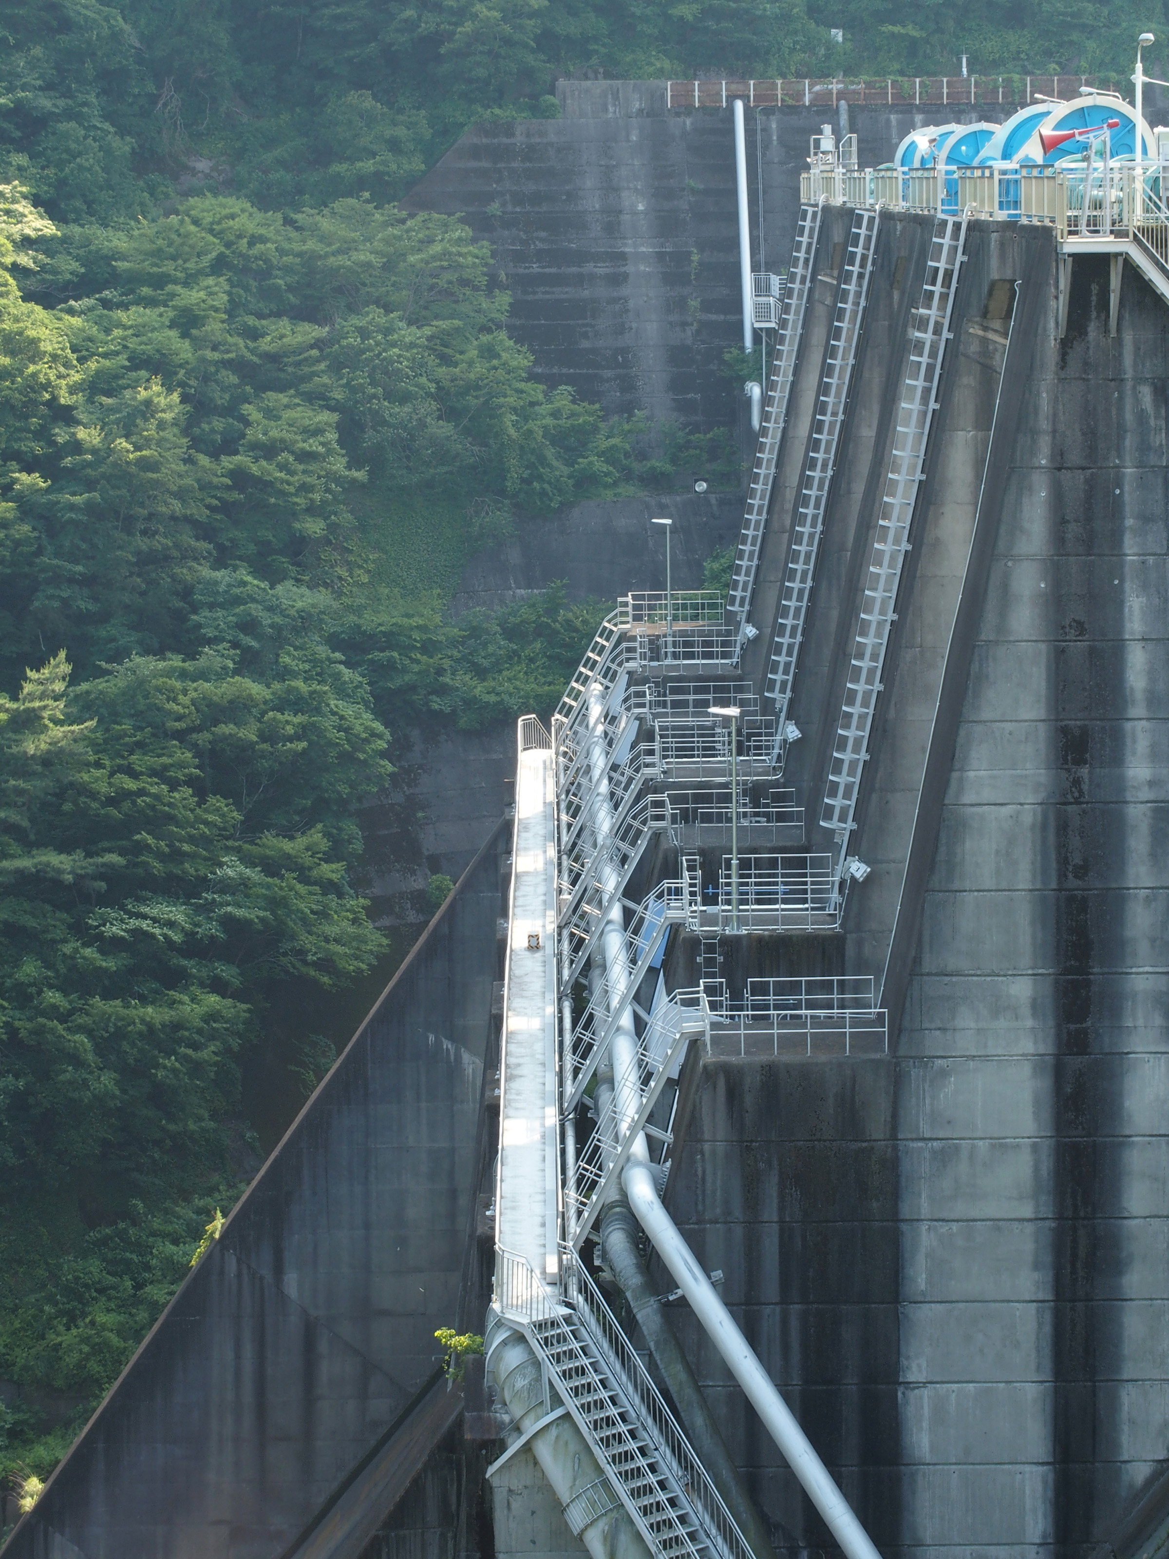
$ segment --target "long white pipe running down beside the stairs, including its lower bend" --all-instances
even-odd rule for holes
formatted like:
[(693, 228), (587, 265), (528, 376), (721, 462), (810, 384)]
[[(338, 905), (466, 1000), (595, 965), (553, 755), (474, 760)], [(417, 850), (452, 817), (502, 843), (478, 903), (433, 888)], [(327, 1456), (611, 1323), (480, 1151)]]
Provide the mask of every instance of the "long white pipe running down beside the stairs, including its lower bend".
[[(736, 103), (737, 125), (742, 125), (742, 103)], [(609, 795), (605, 773), (605, 703), (602, 689), (594, 683), (589, 691), (589, 734), (592, 775), (597, 790), (597, 842), (609, 831)], [(609, 871), (602, 873), (606, 881)], [(616, 1006), (630, 979), (630, 962), (625, 943), (625, 917), (620, 900), (614, 904), (602, 937), (605, 967), (609, 979), (609, 1002)], [(631, 1007), (627, 1007), (613, 1035), (609, 1060), (617, 1119), (628, 1129), (641, 1099), (637, 1098), (637, 1071), (634, 1063), (637, 1034), (633, 1026)], [(756, 1358), (750, 1342), (734, 1324), (729, 1310), (719, 1299), (714, 1285), (706, 1277), (694, 1252), (678, 1232), (678, 1225), (662, 1207), (653, 1180), (650, 1152), (645, 1133), (639, 1132), (622, 1171), (622, 1186), (630, 1207), (650, 1238), (658, 1255), (673, 1274), (673, 1280), (690, 1302), (698, 1322), (726, 1361), (734, 1378), (747, 1392), (747, 1398), (764, 1422), (764, 1428), (779, 1447), (784, 1459), (804, 1487), (804, 1492), (823, 1515), (829, 1531), (840, 1543), (846, 1559), (881, 1559), (868, 1532), (853, 1514), (843, 1494), (837, 1489), (828, 1467), (820, 1461), (812, 1442), (796, 1423), (795, 1414), (775, 1388), (772, 1377)]]

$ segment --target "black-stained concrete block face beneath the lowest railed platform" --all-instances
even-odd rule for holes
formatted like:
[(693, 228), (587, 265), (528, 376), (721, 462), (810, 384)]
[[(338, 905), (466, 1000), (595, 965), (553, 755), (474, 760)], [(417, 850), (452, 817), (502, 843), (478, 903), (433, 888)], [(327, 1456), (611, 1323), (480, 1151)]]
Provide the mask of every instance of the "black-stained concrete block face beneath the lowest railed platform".
[[(898, 1149), (884, 1060), (708, 1060), (667, 1204), (882, 1553), (899, 1537)], [(662, 1288), (667, 1274), (659, 1272)], [(670, 1316), (778, 1550), (832, 1539), (689, 1308)]]

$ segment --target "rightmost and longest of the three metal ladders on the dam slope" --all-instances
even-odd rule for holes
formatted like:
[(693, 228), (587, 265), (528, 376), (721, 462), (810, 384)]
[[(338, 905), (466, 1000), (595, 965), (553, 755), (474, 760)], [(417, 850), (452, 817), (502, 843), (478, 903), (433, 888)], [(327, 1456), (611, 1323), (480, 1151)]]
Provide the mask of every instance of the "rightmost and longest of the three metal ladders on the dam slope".
[(873, 709), (881, 692), (881, 669), (888, 647), (901, 567), (909, 552), (909, 527), (924, 475), (926, 443), (937, 410), (938, 380), (965, 245), (965, 215), (940, 217), (935, 221), (848, 686), (820, 814), (821, 825), (837, 831), (840, 868), (848, 851), (860, 773), (868, 756)]

